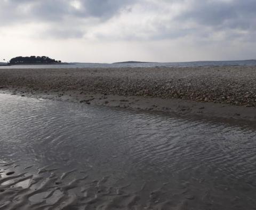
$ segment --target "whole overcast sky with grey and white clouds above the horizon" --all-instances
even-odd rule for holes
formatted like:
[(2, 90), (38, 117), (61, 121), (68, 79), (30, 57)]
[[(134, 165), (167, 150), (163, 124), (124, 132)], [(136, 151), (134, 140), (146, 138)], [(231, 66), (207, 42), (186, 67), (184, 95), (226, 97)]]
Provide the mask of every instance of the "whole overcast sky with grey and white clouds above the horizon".
[(0, 62), (256, 59), (255, 0), (0, 1)]

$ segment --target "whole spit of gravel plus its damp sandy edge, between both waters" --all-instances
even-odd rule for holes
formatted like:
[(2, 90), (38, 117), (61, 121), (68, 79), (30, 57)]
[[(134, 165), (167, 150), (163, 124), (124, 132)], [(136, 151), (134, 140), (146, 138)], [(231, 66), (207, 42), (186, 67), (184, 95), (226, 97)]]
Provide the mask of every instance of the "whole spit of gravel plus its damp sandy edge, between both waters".
[(0, 92), (256, 121), (256, 67), (0, 69)]

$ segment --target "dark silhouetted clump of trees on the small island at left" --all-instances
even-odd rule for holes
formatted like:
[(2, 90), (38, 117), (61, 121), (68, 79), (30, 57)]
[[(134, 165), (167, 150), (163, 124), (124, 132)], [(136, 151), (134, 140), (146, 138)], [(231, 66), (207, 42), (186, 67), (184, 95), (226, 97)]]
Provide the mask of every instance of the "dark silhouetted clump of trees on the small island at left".
[(9, 61), (9, 64), (53, 64), (53, 63), (61, 63), (61, 61), (57, 61), (51, 59), (47, 56), (30, 56), (30, 57), (22, 57), (18, 56), (16, 58), (12, 58)]

